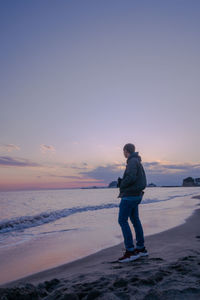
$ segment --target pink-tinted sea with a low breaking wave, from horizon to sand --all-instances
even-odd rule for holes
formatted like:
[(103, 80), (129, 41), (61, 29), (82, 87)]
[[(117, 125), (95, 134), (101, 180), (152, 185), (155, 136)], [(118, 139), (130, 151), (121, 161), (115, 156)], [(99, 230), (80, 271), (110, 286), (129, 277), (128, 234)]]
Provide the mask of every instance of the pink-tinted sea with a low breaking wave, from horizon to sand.
[[(193, 213), (200, 187), (149, 187), (140, 204), (145, 236)], [(0, 283), (77, 260), (123, 241), (118, 189), (0, 192)]]

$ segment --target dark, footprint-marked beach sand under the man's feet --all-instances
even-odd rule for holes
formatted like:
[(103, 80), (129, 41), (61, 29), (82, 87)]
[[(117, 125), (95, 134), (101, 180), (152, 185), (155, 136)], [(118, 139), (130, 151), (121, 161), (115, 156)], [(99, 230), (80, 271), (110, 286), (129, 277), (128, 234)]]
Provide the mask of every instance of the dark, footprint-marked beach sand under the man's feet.
[(199, 225), (197, 209), (183, 225), (148, 236), (149, 257), (118, 263), (120, 244), (4, 284), (0, 299), (200, 299)]

